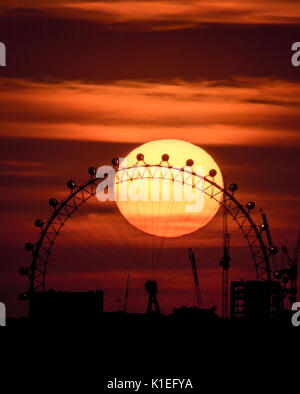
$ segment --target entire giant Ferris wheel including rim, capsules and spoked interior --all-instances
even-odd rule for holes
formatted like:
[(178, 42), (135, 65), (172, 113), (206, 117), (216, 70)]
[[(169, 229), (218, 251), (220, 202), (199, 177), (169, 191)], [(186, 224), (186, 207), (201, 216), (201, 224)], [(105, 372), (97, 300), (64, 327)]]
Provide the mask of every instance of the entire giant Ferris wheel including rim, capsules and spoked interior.
[[(257, 225), (254, 221), (255, 203), (239, 202), (236, 196), (238, 186), (235, 183), (228, 187), (218, 184), (215, 180), (217, 171), (214, 168), (203, 175), (196, 173), (190, 157), (186, 160), (186, 167), (172, 167), (171, 172), (170, 157), (172, 158), (172, 153), (166, 153), (159, 163), (149, 164), (147, 157), (140, 153), (136, 156), (134, 165), (129, 166), (121, 165), (119, 160), (114, 158), (114, 187), (125, 183), (135, 184), (141, 180), (152, 182), (155, 179), (171, 179), (173, 184), (184, 184), (191, 189), (198, 189), (220, 207), (220, 212), (231, 218), (232, 242), (236, 239), (238, 249), (243, 240), (243, 255), (246, 255), (247, 250), (245, 260), (249, 272), (251, 263), (252, 277), (259, 281), (273, 280), (275, 267), (272, 256), (277, 253), (277, 248), (264, 240), (264, 233), (268, 230), (266, 224)], [(133, 169), (134, 174), (138, 175), (132, 176)], [(46, 291), (52, 287), (72, 289), (76, 284), (76, 288), (81, 289), (81, 285), (90, 283), (104, 288), (105, 294), (111, 298), (111, 302), (108, 302), (109, 308), (116, 309), (123, 303), (125, 282), (130, 277), (133, 293), (136, 288), (135, 310), (140, 311), (144, 307), (144, 302), (139, 302), (139, 299), (143, 284), (147, 280), (158, 282), (161, 299), (164, 299), (164, 294), (166, 300), (170, 299), (170, 294), (175, 294), (174, 292), (180, 294), (180, 301), (171, 297), (173, 302), (165, 302), (165, 311), (178, 306), (180, 302), (193, 305), (195, 299), (192, 278), (186, 258), (187, 249), (193, 247), (201, 260), (200, 264), (198, 263), (200, 287), (201, 291), (204, 291), (206, 303), (209, 304), (211, 284), (206, 278), (208, 271), (205, 264), (202, 265), (202, 251), (205, 242), (206, 246), (207, 242), (210, 242), (214, 252), (205, 255), (205, 260), (209, 261), (210, 265), (217, 266), (223, 245), (222, 236), (218, 236), (221, 232), (222, 215), (219, 213), (210, 224), (192, 231), (191, 234), (178, 235), (176, 230), (173, 230), (173, 233), (168, 230), (171, 227), (172, 212), (176, 212), (178, 202), (169, 203), (166, 213), (159, 220), (156, 217), (158, 211), (153, 210), (154, 203), (151, 203), (150, 213), (142, 206), (132, 204), (131, 208), (127, 209), (131, 217), (143, 225), (150, 222), (152, 229), (159, 226), (161, 235), (156, 235), (154, 230), (153, 234), (149, 234), (126, 220), (116, 201), (99, 202), (98, 186), (107, 179), (108, 174), (102, 173), (99, 176), (95, 167), (90, 167), (88, 173), (89, 179), (82, 184), (68, 181), (69, 193), (66, 197), (61, 201), (54, 197), (49, 200), (50, 217), (35, 221), (40, 234), (37, 242), (28, 242), (25, 245), (31, 258), (28, 267), (22, 267), (20, 273), (28, 277), (29, 288), (20, 298), (27, 299), (33, 292)], [(130, 212), (130, 209), (135, 211)], [(189, 220), (187, 215), (186, 226)], [(167, 231), (169, 236), (163, 236)], [(80, 277), (76, 276), (74, 264), (78, 259), (86, 262), (86, 272), (83, 275), (81, 273)], [(62, 262), (64, 264), (61, 264)], [(64, 275), (62, 266), (66, 265), (69, 273)], [(220, 271), (219, 267), (216, 270)], [(237, 272), (236, 278), (239, 278), (238, 275), (240, 274)], [(220, 289), (220, 283), (215, 284), (215, 287)], [(211, 302), (216, 303), (215, 300)], [(164, 305), (164, 302), (162, 304)]]

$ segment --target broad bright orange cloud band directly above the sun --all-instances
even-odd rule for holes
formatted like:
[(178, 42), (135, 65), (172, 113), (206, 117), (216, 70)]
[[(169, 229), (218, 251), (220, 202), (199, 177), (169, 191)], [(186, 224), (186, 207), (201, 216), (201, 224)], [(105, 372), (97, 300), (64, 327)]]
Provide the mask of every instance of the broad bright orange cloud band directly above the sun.
[(205, 145), (300, 143), (296, 82), (0, 82), (1, 136), (142, 143), (184, 129)]

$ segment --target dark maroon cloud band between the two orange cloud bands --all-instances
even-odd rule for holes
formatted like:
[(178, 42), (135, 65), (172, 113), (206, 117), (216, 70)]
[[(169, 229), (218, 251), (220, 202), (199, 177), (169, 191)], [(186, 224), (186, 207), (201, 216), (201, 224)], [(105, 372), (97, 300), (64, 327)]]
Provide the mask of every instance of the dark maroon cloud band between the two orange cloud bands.
[(291, 65), (294, 25), (206, 24), (180, 31), (109, 30), (79, 19), (2, 16), (2, 76), (111, 81), (237, 76), (299, 81)]

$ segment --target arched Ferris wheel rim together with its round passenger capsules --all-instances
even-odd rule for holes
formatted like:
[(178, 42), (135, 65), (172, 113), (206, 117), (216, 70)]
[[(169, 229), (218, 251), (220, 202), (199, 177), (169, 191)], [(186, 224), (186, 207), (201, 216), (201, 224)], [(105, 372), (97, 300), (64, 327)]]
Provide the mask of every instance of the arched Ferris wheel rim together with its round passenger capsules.
[[(115, 170), (114, 183), (115, 185), (120, 185), (121, 183), (134, 183), (139, 179), (151, 180), (157, 179), (170, 179), (170, 164), (169, 155), (165, 154), (162, 157), (160, 163), (156, 165), (148, 164), (142, 154), (137, 155), (136, 163), (134, 166), (122, 166), (119, 163), (118, 158), (112, 160), (113, 168)], [(253, 269), (255, 270), (255, 277), (257, 280), (273, 280), (273, 272), (275, 268), (272, 266), (272, 256), (277, 253), (277, 248), (273, 245), (268, 245), (264, 241), (263, 233), (267, 230), (265, 224), (259, 226), (256, 225), (254, 219), (251, 216), (252, 211), (255, 208), (255, 203), (253, 201), (248, 201), (246, 204), (242, 204), (236, 198), (236, 192), (238, 189), (237, 184), (231, 183), (228, 187), (224, 187), (215, 182), (215, 176), (217, 171), (215, 169), (210, 169), (205, 175), (199, 175), (193, 171), (193, 160), (188, 159), (187, 167), (184, 168), (174, 168), (172, 167), (172, 182), (180, 184), (188, 184), (191, 188), (197, 189), (201, 188), (201, 192), (205, 194), (210, 200), (218, 204), (226, 213), (228, 217), (231, 217), (232, 223), (235, 224), (239, 233), (245, 240), (245, 245), (248, 246), (250, 251), (250, 258), (252, 260)], [(132, 168), (139, 170), (138, 177), (132, 177)], [(152, 171), (153, 170), (153, 171)], [(97, 188), (105, 179), (105, 176), (98, 176), (97, 169), (95, 167), (90, 167), (88, 169), (89, 179), (81, 185), (77, 185), (74, 180), (67, 182), (69, 189), (68, 195), (62, 200), (58, 201), (55, 198), (49, 200), (49, 205), (51, 207), (51, 215), (48, 219), (37, 219), (35, 221), (35, 226), (40, 229), (40, 235), (35, 243), (28, 242), (25, 244), (25, 249), (31, 253), (31, 261), (28, 267), (22, 267), (20, 269), (20, 274), (27, 276), (29, 279), (29, 289), (27, 292), (20, 294), (20, 299), (25, 300), (28, 296), (36, 291), (45, 291), (47, 289), (47, 273), (48, 266), (51, 265), (51, 258), (53, 255), (54, 246), (57, 243), (58, 236), (63, 233), (68, 227), (67, 224), (71, 222), (71, 218), (78, 216), (84, 216), (84, 211), (86, 207), (90, 204), (97, 204)], [(89, 204), (87, 204), (89, 203)], [(99, 202), (98, 202), (99, 203)], [(174, 210), (175, 204), (171, 206), (168, 212), (168, 217), (170, 217), (170, 210)], [(103, 208), (104, 207), (104, 208)], [(139, 229), (133, 228), (131, 224), (126, 222), (124, 218), (118, 212), (115, 202), (106, 202), (102, 204), (102, 216), (104, 219), (101, 223), (105, 223), (105, 219), (110, 221), (114, 227), (114, 232), (117, 232), (117, 236), (110, 236), (106, 232), (107, 242), (110, 250), (116, 255), (119, 254), (132, 254), (130, 258), (135, 260), (145, 260), (145, 256), (142, 258), (141, 253), (144, 249), (161, 250), (163, 249), (163, 244), (165, 242), (171, 242), (170, 240), (165, 240), (164, 237), (157, 237), (151, 235), (143, 235), (143, 232)], [(104, 214), (103, 214), (104, 213)], [(116, 216), (119, 215), (119, 216)], [(135, 213), (140, 220), (143, 220), (143, 212), (137, 211)], [(91, 215), (92, 217), (92, 215)], [(118, 222), (116, 221), (118, 217)], [(120, 220), (126, 222), (128, 226), (127, 230), (121, 231)], [(122, 223), (123, 223), (122, 222)], [(121, 224), (122, 224), (121, 223)], [(124, 224), (124, 223), (123, 223)], [(69, 225), (69, 224), (68, 224)], [(165, 223), (162, 224), (164, 228), (168, 227), (168, 218), (165, 219)], [(81, 229), (84, 232), (83, 229)], [(105, 232), (105, 230), (104, 230)], [(131, 232), (131, 233), (130, 233)], [(113, 234), (113, 233), (112, 233)], [(93, 234), (90, 234), (93, 236)], [(131, 249), (125, 245), (125, 247), (119, 247), (123, 238), (130, 238), (130, 236), (136, 241), (131, 243)], [(188, 239), (185, 236), (177, 237), (181, 240), (181, 245), (186, 247)], [(197, 232), (195, 232), (194, 239), (197, 239)], [(114, 245), (115, 241), (115, 245)], [(78, 241), (79, 242), (79, 241)], [(155, 244), (155, 242), (157, 244)], [(144, 243), (144, 244), (143, 244)], [(170, 245), (166, 246), (166, 249), (170, 249)], [(123, 245), (124, 246), (124, 245)], [(139, 249), (139, 254), (136, 256), (131, 251)], [(89, 251), (93, 251), (93, 247), (90, 247)], [(150, 256), (150, 262), (147, 266), (143, 266), (143, 269), (151, 267), (154, 260), (156, 259), (154, 253)], [(161, 259), (163, 259), (161, 257)], [(168, 266), (160, 263), (160, 270), (167, 272)], [(117, 266), (116, 266), (117, 267)], [(118, 268), (118, 267), (117, 267)], [(130, 270), (130, 268), (129, 268)], [(117, 271), (117, 269), (115, 270)], [(132, 266), (132, 273), (137, 271), (136, 266)]]

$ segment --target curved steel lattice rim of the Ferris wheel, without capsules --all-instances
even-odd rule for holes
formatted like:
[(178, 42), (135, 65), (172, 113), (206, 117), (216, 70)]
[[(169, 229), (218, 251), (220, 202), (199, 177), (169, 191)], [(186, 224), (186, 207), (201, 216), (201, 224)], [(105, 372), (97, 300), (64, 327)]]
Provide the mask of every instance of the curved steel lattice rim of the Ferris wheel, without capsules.
[[(214, 182), (213, 177), (210, 175), (200, 176), (192, 170), (188, 171), (186, 168), (174, 168), (169, 165), (143, 164), (132, 167), (115, 168), (115, 182), (129, 182), (138, 178), (140, 179), (141, 177), (143, 179), (157, 178), (157, 174), (152, 172), (154, 167), (156, 169), (172, 168), (172, 181), (184, 182), (187, 184), (188, 179), (190, 179), (191, 182), (189, 185), (195, 188), (198, 188), (199, 184), (205, 184), (203, 181), (206, 181), (208, 186), (202, 188), (201, 190), (210, 198), (222, 205), (224, 209), (226, 209), (246, 238), (251, 251), (252, 259), (254, 261), (257, 280), (272, 280), (272, 270), (269, 263), (269, 251), (262, 237), (263, 230), (256, 226), (250, 216), (249, 209), (238, 202), (238, 200), (234, 197), (233, 192), (219, 186)], [(133, 178), (131, 175), (132, 173), (130, 172), (133, 168), (142, 169), (144, 173), (140, 173), (138, 177)], [(126, 176), (125, 180), (124, 173)], [(166, 174), (160, 173), (159, 178), (162, 179), (162, 177), (165, 175)], [(187, 179), (187, 175), (190, 176), (190, 178)], [(57, 235), (65, 225), (66, 221), (72, 216), (72, 214), (91, 197), (96, 195), (97, 185), (101, 181), (103, 181), (103, 178), (98, 178), (97, 176), (92, 175), (89, 181), (84, 185), (78, 187), (74, 185), (74, 188), (71, 189), (70, 195), (68, 195), (54, 208), (54, 212), (48, 222), (42, 225), (40, 238), (32, 248), (32, 263), (27, 271), (30, 280), (29, 292), (45, 290), (47, 264)]]

